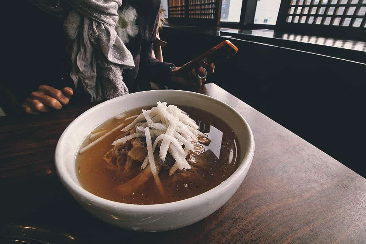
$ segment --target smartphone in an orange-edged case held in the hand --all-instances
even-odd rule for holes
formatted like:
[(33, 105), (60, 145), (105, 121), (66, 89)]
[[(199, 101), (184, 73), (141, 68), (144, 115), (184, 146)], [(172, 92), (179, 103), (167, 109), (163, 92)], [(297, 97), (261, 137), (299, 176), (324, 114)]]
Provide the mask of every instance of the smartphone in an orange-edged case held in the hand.
[(232, 44), (231, 41), (225, 40), (194, 60), (184, 64), (182, 67), (175, 70), (175, 73), (184, 76), (194, 68), (198, 68), (200, 66), (207, 67), (210, 63), (216, 64), (225, 61), (237, 52), (238, 48)]

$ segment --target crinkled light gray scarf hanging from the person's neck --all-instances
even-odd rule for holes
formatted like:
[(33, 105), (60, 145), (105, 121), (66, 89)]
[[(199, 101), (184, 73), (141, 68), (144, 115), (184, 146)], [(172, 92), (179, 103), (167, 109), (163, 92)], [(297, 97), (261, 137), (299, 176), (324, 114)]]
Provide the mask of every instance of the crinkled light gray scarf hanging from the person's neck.
[(122, 0), (69, 0), (72, 6), (64, 30), (71, 52), (71, 78), (82, 85), (90, 101), (128, 94), (122, 70), (133, 68), (130, 51), (115, 26)]

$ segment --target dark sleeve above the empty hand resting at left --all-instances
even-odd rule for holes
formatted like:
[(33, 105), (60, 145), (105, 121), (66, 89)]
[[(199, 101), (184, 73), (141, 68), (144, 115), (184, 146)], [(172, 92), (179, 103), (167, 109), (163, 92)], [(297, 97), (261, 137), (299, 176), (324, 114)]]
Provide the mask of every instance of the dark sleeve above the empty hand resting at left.
[[(21, 103), (40, 85), (60, 89), (68, 84), (63, 79), (66, 59), (66, 40), (63, 34), (63, 16), (54, 16), (41, 10), (29, 1), (24, 1), (17, 9), (18, 24), (30, 22), (32, 28), (14, 31), (12, 42), (16, 48), (10, 61), (18, 65), (11, 72), (5, 89), (15, 95)], [(70, 69), (70, 68), (69, 68)]]

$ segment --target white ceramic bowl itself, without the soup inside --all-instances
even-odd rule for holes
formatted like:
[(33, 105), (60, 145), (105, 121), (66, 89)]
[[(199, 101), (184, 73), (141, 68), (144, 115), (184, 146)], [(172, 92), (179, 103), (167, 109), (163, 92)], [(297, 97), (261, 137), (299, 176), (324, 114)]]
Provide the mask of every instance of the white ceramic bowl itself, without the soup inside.
[[(137, 205), (113, 202), (82, 188), (76, 176), (75, 155), (89, 132), (113, 116), (134, 108), (154, 105), (157, 101), (198, 107), (223, 118), (238, 136), (241, 150), (238, 169), (227, 180), (203, 194), (164, 204)], [(153, 90), (114, 98), (77, 117), (65, 129), (57, 143), (55, 161), (61, 182), (91, 214), (125, 229), (155, 232), (193, 224), (223, 206), (242, 184), (253, 154), (254, 138), (248, 123), (227, 104), (189, 91)]]

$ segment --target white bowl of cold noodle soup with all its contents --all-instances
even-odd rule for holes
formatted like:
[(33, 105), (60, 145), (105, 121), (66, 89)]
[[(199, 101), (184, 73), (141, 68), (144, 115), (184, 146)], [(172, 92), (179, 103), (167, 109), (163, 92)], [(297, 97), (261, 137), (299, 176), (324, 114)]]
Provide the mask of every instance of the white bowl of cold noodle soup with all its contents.
[(61, 135), (57, 174), (89, 213), (156, 232), (219, 209), (246, 176), (254, 138), (229, 105), (190, 91), (153, 90), (102, 102)]

